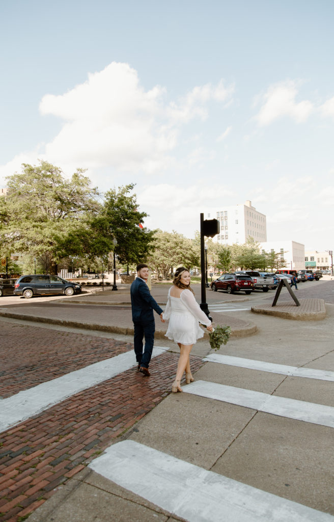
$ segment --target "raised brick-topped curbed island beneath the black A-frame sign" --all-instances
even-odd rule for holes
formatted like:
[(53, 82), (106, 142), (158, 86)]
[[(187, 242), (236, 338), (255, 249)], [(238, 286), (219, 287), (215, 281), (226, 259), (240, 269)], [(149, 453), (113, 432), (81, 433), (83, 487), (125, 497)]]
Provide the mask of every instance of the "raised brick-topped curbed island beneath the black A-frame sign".
[(324, 299), (301, 299), (300, 304), (300, 306), (296, 306), (283, 301), (277, 303), (276, 306), (271, 306), (271, 304), (252, 306), (251, 311), (255, 314), (276, 315), (284, 319), (294, 319), (294, 321), (321, 321), (321, 319), (325, 319)]

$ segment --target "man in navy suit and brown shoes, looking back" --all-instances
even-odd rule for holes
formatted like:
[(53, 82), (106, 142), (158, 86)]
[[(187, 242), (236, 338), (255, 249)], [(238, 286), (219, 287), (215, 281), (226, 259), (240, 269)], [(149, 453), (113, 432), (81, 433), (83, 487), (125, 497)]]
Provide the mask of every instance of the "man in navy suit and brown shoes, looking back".
[[(137, 265), (137, 278), (133, 281), (130, 288), (132, 321), (134, 329), (134, 352), (138, 362), (138, 370), (144, 375), (151, 375), (149, 364), (152, 357), (155, 322), (153, 310), (160, 315), (164, 323), (163, 310), (153, 299), (150, 289), (147, 286), (149, 277), (149, 267), (140, 263)], [(143, 353), (143, 337), (145, 336), (145, 348)]]

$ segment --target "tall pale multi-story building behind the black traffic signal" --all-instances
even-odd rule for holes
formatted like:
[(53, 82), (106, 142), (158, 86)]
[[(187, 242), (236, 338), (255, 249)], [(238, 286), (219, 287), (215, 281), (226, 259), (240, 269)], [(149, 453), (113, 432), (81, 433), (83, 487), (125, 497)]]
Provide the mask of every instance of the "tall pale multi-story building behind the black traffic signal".
[(249, 200), (206, 213), (205, 219), (214, 218), (220, 223), (220, 233), (214, 241), (222, 245), (242, 244), (248, 238), (254, 238), (259, 243), (267, 241), (266, 216), (252, 207)]

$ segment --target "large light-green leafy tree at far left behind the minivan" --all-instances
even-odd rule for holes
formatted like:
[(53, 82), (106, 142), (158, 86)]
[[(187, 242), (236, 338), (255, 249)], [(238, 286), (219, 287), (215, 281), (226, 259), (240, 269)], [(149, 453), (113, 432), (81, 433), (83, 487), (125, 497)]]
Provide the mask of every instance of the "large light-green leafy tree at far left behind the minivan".
[(59, 240), (75, 231), (81, 220), (100, 208), (98, 192), (84, 170), (69, 180), (46, 161), (22, 164), (22, 172), (8, 176), (9, 192), (0, 198), (0, 239), (7, 252), (29, 253), (43, 271), (56, 273)]

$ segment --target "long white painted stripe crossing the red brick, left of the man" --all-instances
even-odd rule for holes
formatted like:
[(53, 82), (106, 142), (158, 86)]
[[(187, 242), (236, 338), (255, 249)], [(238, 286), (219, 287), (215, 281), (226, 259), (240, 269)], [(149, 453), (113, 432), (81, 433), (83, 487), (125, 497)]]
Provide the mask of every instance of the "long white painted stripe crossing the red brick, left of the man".
[[(168, 348), (155, 346), (152, 358), (166, 350)], [(0, 433), (84, 389), (130, 370), (135, 365), (134, 362), (134, 353), (131, 350), (3, 399), (0, 402)]]

